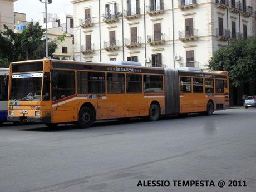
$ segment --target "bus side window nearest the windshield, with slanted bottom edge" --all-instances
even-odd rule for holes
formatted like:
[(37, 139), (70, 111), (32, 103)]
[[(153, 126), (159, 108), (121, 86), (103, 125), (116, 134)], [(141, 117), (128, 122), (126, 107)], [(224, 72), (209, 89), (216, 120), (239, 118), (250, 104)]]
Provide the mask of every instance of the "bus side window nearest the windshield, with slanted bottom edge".
[(75, 71), (56, 71), (58, 78), (52, 86), (52, 100), (58, 100), (76, 93)]

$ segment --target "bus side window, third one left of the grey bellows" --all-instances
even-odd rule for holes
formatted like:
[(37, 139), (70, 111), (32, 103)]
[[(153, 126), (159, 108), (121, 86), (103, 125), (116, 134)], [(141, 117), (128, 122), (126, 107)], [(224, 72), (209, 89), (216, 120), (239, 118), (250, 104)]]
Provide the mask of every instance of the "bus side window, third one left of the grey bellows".
[(107, 73), (107, 93), (125, 93), (124, 73)]

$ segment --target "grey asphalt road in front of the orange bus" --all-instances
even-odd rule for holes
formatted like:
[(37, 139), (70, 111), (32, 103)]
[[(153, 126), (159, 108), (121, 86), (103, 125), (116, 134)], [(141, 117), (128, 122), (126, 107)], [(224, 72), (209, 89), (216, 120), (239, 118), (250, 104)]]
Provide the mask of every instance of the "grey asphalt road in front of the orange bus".
[[(139, 180), (219, 180), (224, 188), (137, 187)], [(247, 187), (228, 187), (245, 180)], [(0, 127), (0, 191), (256, 191), (256, 109), (156, 122)]]

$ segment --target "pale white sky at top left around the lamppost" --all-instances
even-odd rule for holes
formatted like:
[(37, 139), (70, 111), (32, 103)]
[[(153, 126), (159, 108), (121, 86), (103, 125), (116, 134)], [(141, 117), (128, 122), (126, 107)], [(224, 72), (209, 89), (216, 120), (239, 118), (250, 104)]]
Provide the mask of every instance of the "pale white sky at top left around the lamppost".
[[(39, 0), (18, 0), (14, 2), (14, 12), (26, 13), (27, 21), (36, 22), (38, 13), (45, 12), (45, 4)], [(51, 4), (47, 4), (47, 12), (73, 14), (73, 4), (70, 0), (52, 0)]]

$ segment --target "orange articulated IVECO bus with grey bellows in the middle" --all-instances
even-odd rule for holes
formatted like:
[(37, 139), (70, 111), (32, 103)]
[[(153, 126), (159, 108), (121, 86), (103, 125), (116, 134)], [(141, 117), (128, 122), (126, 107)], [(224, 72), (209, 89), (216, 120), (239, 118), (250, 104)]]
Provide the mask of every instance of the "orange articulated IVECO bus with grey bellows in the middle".
[(14, 62), (8, 120), (47, 126), (204, 112), (229, 107), (228, 72), (141, 67), (136, 62)]

